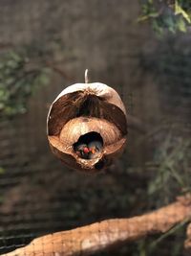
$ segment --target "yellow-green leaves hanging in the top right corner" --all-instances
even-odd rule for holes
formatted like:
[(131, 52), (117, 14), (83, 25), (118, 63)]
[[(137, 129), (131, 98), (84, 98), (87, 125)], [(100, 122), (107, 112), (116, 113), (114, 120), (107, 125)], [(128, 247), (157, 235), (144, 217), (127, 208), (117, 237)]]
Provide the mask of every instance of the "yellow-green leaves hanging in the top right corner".
[(189, 0), (159, 1), (140, 0), (141, 14), (138, 21), (149, 20), (158, 35), (165, 31), (172, 34), (186, 32), (191, 25), (191, 3)]

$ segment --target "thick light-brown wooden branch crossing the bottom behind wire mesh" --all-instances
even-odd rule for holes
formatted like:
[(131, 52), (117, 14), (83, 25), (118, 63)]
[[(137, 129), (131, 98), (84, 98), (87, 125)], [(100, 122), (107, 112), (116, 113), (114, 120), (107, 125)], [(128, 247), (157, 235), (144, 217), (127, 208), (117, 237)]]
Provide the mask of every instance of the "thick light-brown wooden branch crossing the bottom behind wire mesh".
[(3, 256), (89, 255), (113, 245), (136, 241), (146, 235), (164, 233), (190, 217), (191, 197), (186, 196), (142, 216), (100, 221), (36, 238), (31, 244)]

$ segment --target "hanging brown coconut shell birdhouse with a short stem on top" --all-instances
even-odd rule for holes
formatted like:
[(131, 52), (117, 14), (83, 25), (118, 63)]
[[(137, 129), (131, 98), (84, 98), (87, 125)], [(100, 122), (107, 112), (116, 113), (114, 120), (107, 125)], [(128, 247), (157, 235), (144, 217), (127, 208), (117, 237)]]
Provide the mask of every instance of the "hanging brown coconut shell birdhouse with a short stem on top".
[(82, 171), (107, 168), (124, 149), (125, 107), (110, 86), (75, 83), (54, 100), (47, 119), (48, 140), (67, 166)]

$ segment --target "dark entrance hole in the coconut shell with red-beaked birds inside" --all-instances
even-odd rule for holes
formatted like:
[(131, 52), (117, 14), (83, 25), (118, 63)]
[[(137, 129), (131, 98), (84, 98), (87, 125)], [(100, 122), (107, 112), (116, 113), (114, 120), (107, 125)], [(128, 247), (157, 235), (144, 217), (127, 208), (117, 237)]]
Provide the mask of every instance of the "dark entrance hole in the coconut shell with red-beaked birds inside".
[(103, 139), (99, 133), (92, 131), (79, 137), (73, 145), (74, 151), (84, 159), (95, 159), (103, 150)]

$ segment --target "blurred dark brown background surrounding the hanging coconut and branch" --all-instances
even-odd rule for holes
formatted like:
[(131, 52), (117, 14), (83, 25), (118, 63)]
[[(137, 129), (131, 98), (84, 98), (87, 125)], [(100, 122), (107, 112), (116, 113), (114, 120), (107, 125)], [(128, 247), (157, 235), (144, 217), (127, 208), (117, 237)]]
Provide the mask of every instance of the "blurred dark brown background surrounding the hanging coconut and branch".
[[(191, 6), (156, 2), (0, 1), (0, 253), (190, 191)], [(49, 106), (86, 68), (138, 121), (97, 175), (67, 169), (46, 137)], [(184, 255), (184, 229), (97, 255)]]

